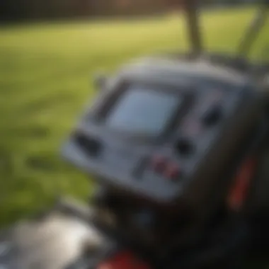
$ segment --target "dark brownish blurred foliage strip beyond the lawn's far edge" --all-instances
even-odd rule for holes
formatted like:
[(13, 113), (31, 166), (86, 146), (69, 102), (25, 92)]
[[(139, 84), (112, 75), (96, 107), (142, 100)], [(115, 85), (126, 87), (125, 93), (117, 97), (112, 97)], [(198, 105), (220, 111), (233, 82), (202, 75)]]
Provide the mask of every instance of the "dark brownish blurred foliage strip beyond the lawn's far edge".
[[(205, 6), (248, 4), (257, 1), (261, 0), (197, 0), (198, 4)], [(156, 15), (178, 10), (182, 4), (183, 0), (1, 0), (0, 22)]]

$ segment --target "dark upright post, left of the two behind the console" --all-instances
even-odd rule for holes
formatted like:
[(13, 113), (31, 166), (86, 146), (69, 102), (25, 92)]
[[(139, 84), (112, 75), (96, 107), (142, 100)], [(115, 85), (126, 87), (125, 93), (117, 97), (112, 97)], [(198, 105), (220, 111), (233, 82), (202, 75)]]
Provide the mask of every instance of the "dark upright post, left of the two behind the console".
[(198, 0), (184, 0), (188, 35), (193, 56), (197, 57), (202, 52), (202, 38), (200, 35)]

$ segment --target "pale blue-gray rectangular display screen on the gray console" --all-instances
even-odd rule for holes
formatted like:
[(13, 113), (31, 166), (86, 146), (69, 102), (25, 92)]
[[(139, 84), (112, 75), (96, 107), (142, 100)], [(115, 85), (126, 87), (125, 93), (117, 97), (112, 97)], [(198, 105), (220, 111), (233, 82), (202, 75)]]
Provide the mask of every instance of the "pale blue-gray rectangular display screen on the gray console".
[(178, 94), (131, 86), (113, 105), (105, 125), (135, 135), (159, 135), (181, 103)]

